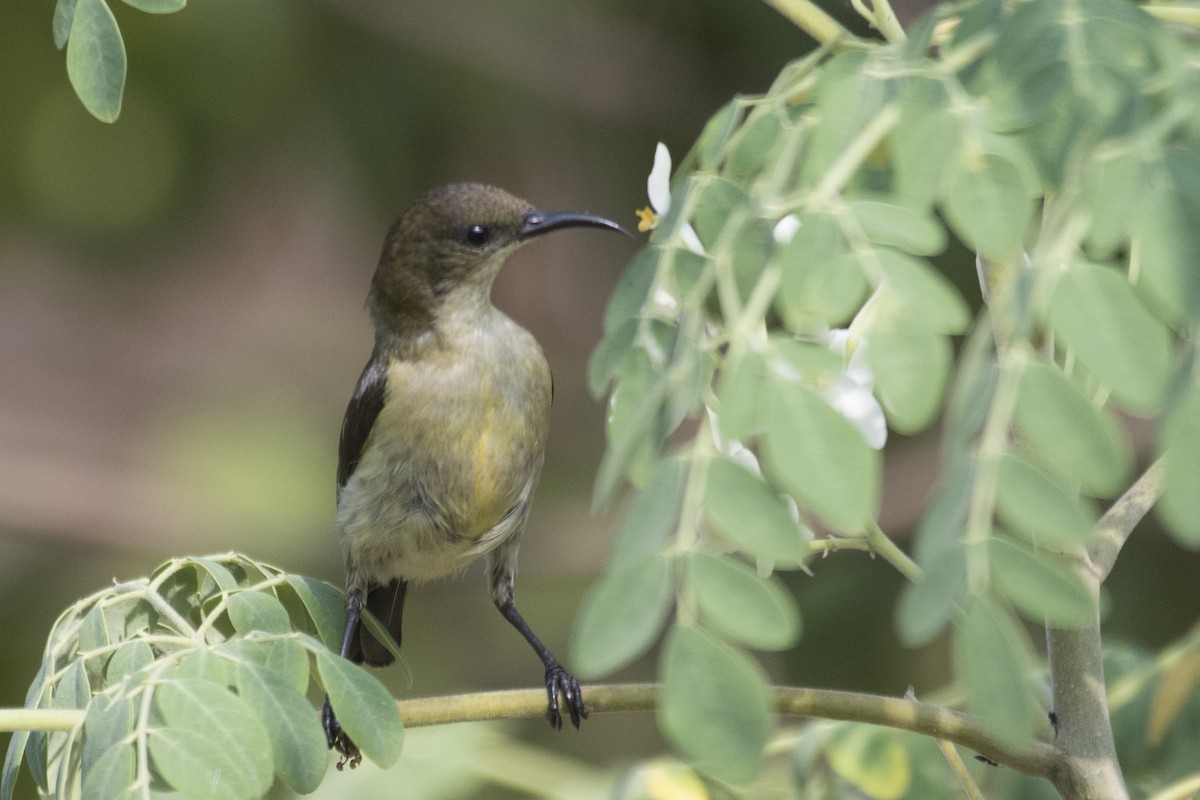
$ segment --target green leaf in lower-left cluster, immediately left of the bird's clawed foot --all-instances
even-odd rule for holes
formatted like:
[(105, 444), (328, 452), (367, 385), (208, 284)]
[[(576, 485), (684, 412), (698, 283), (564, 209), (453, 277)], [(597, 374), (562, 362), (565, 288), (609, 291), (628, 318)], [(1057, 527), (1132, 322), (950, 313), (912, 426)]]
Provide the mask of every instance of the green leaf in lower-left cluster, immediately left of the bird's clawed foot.
[(266, 726), (280, 780), (299, 794), (313, 792), (325, 775), (325, 736), (313, 708), (286, 679), (269, 669), (238, 666), (238, 693)]

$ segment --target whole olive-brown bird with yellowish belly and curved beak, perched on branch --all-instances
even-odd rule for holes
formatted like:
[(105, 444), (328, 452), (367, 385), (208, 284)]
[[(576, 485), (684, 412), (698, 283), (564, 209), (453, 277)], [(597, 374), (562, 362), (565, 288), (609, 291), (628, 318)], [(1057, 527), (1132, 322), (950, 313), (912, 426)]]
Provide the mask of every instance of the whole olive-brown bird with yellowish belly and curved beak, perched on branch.
[[(496, 275), (532, 237), (601, 217), (539, 211), (503, 190), (452, 184), (418, 198), (388, 231), (367, 306), (376, 327), (338, 447), (337, 537), (346, 560), (342, 655), (392, 655), (360, 624), (365, 607), (396, 643), (409, 582), (484, 557), (492, 601), (546, 667), (547, 716), (586, 717), (580, 685), (517, 613), (517, 545), (550, 429), (552, 384), (541, 348), (491, 302)], [(326, 698), (325, 732), (354, 745)]]

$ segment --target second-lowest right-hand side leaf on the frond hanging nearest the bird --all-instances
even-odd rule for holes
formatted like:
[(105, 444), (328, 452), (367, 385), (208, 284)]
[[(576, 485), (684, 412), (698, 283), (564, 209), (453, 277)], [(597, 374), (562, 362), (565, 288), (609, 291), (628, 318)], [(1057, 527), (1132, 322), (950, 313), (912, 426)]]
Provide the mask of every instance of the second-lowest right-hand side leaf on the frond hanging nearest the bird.
[(725, 457), (708, 464), (704, 516), (724, 540), (773, 565), (803, 564), (812, 539), (778, 492)]

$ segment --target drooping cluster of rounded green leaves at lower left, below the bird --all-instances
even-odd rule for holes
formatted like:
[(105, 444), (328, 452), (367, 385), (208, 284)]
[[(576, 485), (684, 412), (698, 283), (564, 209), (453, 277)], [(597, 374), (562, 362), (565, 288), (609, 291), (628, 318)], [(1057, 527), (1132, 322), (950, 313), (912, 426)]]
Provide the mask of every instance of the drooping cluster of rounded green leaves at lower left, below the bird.
[(26, 697), (78, 709), (62, 733), (17, 733), (0, 796), (24, 762), (47, 796), (264, 796), (281, 781), (307, 794), (329, 754), (311, 684), (380, 765), (400, 757), (395, 700), (331, 651), (342, 594), (241, 555), (176, 559), (116, 584), (55, 622)]

